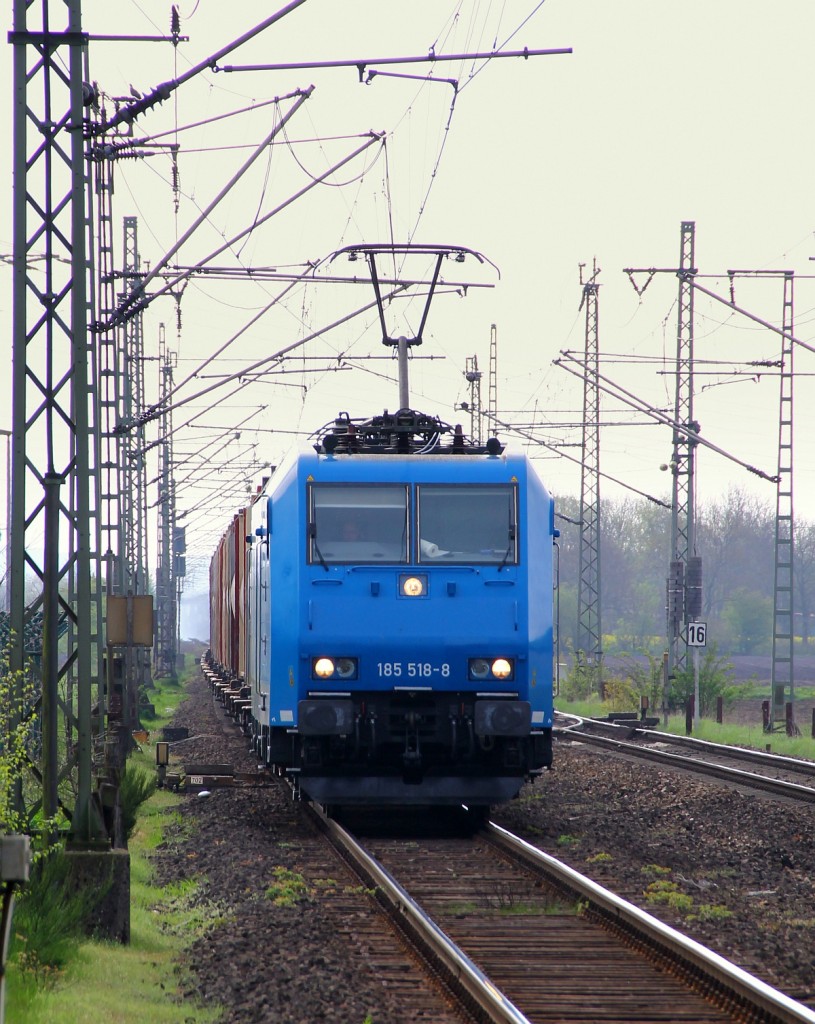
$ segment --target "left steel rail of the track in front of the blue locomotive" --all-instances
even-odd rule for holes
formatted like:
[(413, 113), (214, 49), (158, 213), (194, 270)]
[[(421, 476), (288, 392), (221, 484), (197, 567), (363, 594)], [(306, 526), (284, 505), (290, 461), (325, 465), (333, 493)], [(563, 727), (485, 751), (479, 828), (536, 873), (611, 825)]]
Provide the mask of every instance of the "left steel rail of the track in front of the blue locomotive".
[[(489, 978), (436, 925), (408, 894), (399, 883), (374, 857), (359, 846), (349, 833), (336, 821), (311, 807), (319, 827), (349, 859), (357, 873), (370, 880), (379, 890), (399, 928), (418, 939), (431, 955), (441, 962), (446, 981), (474, 1002), (495, 1024), (530, 1024), (520, 1010), (490, 982)], [(813, 1018), (815, 1021), (815, 1018)]]

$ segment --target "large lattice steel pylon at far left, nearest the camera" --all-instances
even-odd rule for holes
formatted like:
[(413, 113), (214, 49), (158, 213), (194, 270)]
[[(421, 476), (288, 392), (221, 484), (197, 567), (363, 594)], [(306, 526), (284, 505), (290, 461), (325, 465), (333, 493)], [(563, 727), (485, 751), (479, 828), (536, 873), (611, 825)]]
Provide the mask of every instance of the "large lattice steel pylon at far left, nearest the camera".
[[(26, 808), (22, 786), (15, 796), (23, 810), (41, 806), (50, 815), (73, 795), (72, 837), (94, 843), (105, 834), (92, 795), (94, 682), (99, 688), (93, 623), (101, 606), (101, 579), (92, 528), (98, 466), (89, 388), (92, 231), (84, 125), (91, 96), (83, 81), (81, 0), (65, 0), (58, 8), (57, 14), (47, 0), (14, 0), (10, 37), (10, 658), (12, 670), (31, 665), (39, 676), (43, 737), (42, 798)], [(36, 596), (27, 602), (32, 585)], [(42, 648), (27, 650), (27, 628), (40, 611)]]

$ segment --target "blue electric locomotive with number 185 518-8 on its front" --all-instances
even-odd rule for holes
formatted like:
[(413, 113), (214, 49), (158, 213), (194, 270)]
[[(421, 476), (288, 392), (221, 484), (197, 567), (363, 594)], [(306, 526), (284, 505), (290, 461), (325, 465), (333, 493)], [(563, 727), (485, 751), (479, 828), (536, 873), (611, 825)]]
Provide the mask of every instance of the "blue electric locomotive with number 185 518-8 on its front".
[(551, 764), (554, 510), (523, 454), (343, 416), (241, 531), (255, 748), (310, 798), (484, 807)]

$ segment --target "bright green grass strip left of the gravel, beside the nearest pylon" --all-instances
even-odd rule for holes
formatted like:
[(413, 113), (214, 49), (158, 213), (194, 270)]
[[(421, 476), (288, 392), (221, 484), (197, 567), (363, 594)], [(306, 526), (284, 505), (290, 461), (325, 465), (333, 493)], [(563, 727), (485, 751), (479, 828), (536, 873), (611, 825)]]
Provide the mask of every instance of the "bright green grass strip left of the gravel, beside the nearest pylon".
[[(152, 691), (156, 732), (172, 717), (184, 696), (179, 684)], [(134, 768), (155, 771), (153, 746), (145, 744), (130, 759)], [(181, 1001), (178, 961), (182, 950), (217, 920), (219, 910), (192, 906), (196, 881), (158, 887), (153, 881), (151, 853), (167, 827), (179, 798), (155, 793), (139, 808), (130, 840), (130, 945), (79, 941), (68, 963), (50, 972), (27, 971), (9, 963), (6, 1020), (14, 1024), (213, 1024), (219, 1008)]]

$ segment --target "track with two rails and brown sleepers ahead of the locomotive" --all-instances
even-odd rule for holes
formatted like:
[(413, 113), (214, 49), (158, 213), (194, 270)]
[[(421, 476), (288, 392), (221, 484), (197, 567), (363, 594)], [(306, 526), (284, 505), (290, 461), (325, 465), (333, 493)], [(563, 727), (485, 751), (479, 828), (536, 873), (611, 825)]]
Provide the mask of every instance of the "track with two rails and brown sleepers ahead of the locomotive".
[[(475, 1020), (815, 1022), (815, 1013), (488, 824), (472, 838), (319, 827)], [(364, 845), (362, 845), (362, 842)]]

